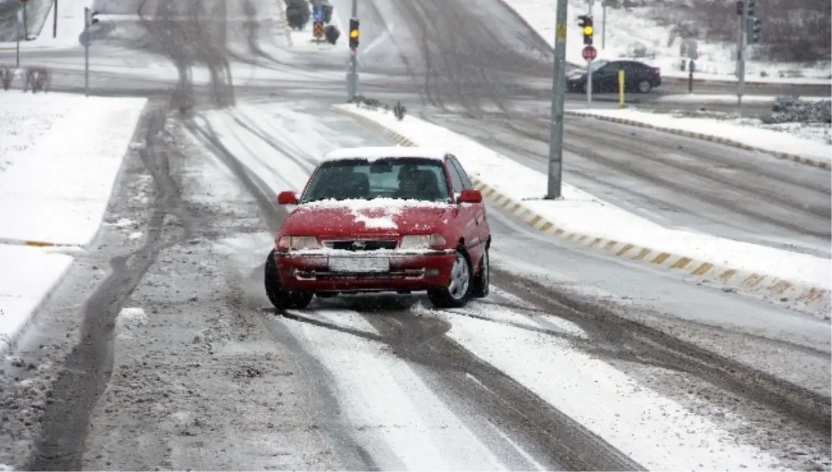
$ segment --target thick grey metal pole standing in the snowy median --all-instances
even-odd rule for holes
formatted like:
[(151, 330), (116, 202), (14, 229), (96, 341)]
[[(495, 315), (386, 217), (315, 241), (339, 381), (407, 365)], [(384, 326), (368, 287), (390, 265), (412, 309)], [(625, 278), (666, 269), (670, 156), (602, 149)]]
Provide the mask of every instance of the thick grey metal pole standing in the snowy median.
[(562, 197), (563, 100), (567, 86), (567, 2), (557, 0), (555, 66), (552, 76), (552, 118), (549, 128), (549, 175), (546, 199)]

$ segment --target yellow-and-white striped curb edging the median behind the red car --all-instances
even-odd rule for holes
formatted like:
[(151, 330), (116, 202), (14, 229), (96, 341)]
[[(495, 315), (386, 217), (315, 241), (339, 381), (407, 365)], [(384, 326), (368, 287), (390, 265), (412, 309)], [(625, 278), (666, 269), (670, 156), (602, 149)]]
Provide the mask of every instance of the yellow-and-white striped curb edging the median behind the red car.
[[(374, 120), (350, 112), (339, 106), (333, 106), (333, 111), (351, 116), (364, 125), (403, 146), (416, 146), (413, 140), (380, 125)], [(691, 276), (702, 282), (716, 283), (737, 291), (757, 293), (766, 297), (782, 301), (797, 301), (810, 306), (832, 304), (832, 291), (824, 288), (811, 287), (801, 283), (793, 283), (783, 278), (764, 273), (751, 273), (735, 268), (724, 267), (708, 261), (689, 258), (681, 254), (666, 253), (639, 244), (617, 241), (614, 239), (597, 238), (589, 234), (579, 234), (557, 225), (543, 218), (541, 215), (527, 209), (522, 202), (510, 199), (504, 194), (483, 183), (476, 177), (472, 178), (474, 187), (483, 192), (483, 197), (491, 199), (495, 204), (508, 209), (508, 212), (522, 219), (534, 229), (542, 233), (576, 243), (584, 248), (602, 251), (617, 258), (638, 263), (647, 263), (656, 268), (665, 268), (676, 273)]]

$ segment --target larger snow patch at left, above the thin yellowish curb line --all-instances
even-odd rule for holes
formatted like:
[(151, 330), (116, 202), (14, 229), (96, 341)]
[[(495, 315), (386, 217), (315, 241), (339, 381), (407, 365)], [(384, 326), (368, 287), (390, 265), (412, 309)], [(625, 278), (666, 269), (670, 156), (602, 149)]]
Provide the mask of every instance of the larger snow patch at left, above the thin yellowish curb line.
[(0, 95), (0, 238), (87, 245), (145, 104), (144, 98)]

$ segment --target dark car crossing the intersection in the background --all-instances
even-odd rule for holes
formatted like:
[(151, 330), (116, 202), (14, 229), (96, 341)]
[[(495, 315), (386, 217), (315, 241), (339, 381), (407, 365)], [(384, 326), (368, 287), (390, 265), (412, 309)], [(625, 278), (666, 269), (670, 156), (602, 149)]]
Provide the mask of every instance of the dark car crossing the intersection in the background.
[[(661, 71), (639, 61), (626, 59), (592, 61), (592, 93), (618, 91), (618, 71), (624, 70), (624, 90), (647, 93), (661, 86)], [(567, 72), (567, 91), (587, 93), (587, 69)]]

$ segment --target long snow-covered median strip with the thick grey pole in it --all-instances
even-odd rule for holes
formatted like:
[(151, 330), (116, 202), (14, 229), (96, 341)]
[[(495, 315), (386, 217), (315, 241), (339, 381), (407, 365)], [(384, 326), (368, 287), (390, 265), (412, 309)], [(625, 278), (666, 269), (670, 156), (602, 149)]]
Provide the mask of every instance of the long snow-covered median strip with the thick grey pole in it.
[(447, 148), (457, 155), (470, 175), (514, 201), (526, 200), (523, 205), (558, 228), (596, 238), (638, 244), (708, 261), (717, 266), (775, 275), (793, 283), (832, 289), (830, 259), (710, 234), (667, 229), (607, 204), (569, 184), (563, 185), (562, 200), (542, 200), (547, 188), (545, 174), (498, 155), (473, 140), (414, 116), (406, 116), (399, 121), (392, 114), (381, 111), (361, 109), (353, 105), (337, 107), (407, 136), (416, 145)]

